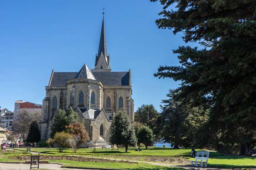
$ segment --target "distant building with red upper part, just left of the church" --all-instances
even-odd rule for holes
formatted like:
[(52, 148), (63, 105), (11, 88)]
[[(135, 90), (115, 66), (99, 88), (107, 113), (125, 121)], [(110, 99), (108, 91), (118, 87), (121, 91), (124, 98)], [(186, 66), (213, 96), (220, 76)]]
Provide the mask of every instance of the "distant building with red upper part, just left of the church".
[(42, 109), (42, 105), (23, 100), (15, 101), (14, 113), (19, 112), (20, 109), (27, 109), (28, 111), (40, 111)]

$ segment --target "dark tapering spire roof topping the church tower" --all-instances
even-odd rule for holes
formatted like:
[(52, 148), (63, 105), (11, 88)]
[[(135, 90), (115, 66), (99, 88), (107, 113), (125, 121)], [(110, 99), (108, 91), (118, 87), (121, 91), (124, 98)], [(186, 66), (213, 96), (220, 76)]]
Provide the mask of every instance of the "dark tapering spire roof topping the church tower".
[(100, 33), (100, 44), (99, 44), (99, 50), (98, 50), (98, 55), (96, 57), (96, 63), (97, 64), (101, 53), (103, 53), (103, 56), (106, 59), (106, 63), (107, 62), (107, 50), (106, 50), (106, 33), (105, 33), (105, 23), (104, 23), (104, 16), (103, 16), (103, 20), (102, 20), (102, 26), (101, 26), (101, 33)]

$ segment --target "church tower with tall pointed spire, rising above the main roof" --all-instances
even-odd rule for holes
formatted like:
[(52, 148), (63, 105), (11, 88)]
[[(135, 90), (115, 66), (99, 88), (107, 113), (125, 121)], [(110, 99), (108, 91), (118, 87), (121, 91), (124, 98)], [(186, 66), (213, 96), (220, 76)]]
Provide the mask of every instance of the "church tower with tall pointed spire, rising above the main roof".
[(107, 55), (106, 50), (104, 15), (101, 26), (99, 50), (98, 54), (96, 55), (95, 66), (94, 69), (92, 69), (92, 72), (112, 72), (110, 69), (110, 55)]

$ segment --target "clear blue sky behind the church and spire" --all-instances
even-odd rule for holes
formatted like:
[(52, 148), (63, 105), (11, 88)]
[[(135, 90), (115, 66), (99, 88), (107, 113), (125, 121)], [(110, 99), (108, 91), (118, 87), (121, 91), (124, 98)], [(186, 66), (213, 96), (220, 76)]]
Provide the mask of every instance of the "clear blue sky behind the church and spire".
[[(150, 0), (11, 0), (0, 2), (0, 106), (16, 100), (42, 104), (52, 69), (93, 69), (102, 8), (113, 71), (132, 71), (135, 110), (153, 104), (179, 83), (153, 76), (160, 65), (179, 65), (172, 49), (187, 45), (182, 34), (158, 29), (162, 10)], [(194, 46), (193, 44), (190, 44)]]

